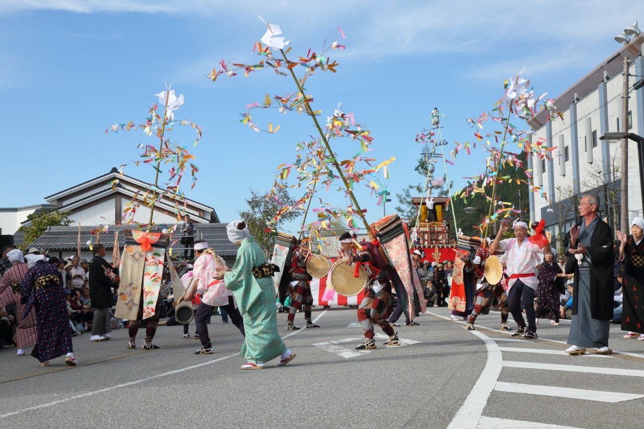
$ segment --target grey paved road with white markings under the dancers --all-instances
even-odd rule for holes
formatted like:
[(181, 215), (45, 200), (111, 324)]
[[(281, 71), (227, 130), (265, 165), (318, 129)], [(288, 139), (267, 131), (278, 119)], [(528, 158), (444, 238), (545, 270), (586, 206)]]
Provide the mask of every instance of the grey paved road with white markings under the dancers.
[[(159, 327), (162, 348), (151, 351), (127, 350), (124, 329), (102, 343), (83, 334), (74, 339), (75, 368), (62, 358), (41, 368), (15, 348), (1, 350), (0, 427), (643, 426), (644, 343), (621, 339), (619, 327), (611, 327), (611, 346), (620, 354), (573, 357), (563, 353), (569, 322), (516, 340), (497, 330), (498, 313), (480, 316), (469, 332), (441, 307), (418, 318), (419, 327), (398, 328), (402, 346), (358, 352), (355, 310), (313, 315), (320, 329), (292, 332), (279, 314), (298, 356), (260, 371), (238, 369), (242, 338), (218, 317), (209, 325), (216, 352), (206, 356), (193, 354), (199, 342), (182, 339), (181, 327)], [(383, 381), (374, 385), (374, 374)]]

